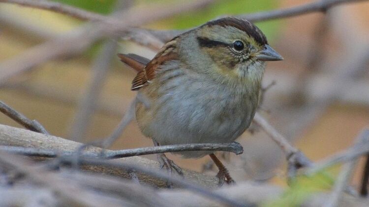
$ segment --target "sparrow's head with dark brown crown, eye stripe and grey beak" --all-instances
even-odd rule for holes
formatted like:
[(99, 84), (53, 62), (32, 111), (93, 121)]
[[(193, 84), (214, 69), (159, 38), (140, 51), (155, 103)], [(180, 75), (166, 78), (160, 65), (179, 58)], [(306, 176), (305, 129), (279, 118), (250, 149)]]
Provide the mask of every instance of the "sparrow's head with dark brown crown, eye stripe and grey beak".
[(195, 42), (184, 43), (186, 52), (191, 52), (191, 48), (193, 51), (189, 55), (192, 59), (189, 62), (196, 59), (197, 63), (194, 64), (197, 65), (199, 62), (206, 62), (206, 71), (210, 73), (220, 73), (230, 78), (260, 80), (265, 61), (283, 60), (268, 45), (263, 32), (246, 20), (233, 17), (214, 20), (187, 35), (192, 36), (192, 42)]

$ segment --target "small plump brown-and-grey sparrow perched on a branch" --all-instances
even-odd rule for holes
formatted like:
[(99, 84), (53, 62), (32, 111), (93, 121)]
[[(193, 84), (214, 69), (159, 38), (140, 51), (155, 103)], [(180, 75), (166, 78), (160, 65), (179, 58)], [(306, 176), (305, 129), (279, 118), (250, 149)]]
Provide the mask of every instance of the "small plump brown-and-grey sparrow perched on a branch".
[[(174, 37), (151, 60), (132, 53), (118, 56), (138, 71), (131, 90), (149, 105), (136, 103), (136, 121), (155, 146), (233, 142), (255, 115), (266, 61), (283, 60), (257, 26), (236, 17), (209, 21)], [(219, 183), (235, 182), (214, 152), (178, 154), (210, 155)], [(161, 167), (182, 174), (164, 154), (157, 156)]]

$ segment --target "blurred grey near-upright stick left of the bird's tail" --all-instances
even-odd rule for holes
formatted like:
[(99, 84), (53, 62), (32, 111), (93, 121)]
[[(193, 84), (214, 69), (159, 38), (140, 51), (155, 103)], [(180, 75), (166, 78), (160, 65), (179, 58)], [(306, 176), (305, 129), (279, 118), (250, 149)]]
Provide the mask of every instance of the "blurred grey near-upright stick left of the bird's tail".
[(71, 127), (70, 137), (74, 141), (80, 141), (85, 137), (86, 130), (91, 122), (90, 117), (95, 109), (96, 102), (116, 51), (117, 42), (106, 40), (102, 46), (101, 53), (98, 54), (93, 63), (91, 82), (87, 86), (84, 96), (81, 98), (74, 123)]

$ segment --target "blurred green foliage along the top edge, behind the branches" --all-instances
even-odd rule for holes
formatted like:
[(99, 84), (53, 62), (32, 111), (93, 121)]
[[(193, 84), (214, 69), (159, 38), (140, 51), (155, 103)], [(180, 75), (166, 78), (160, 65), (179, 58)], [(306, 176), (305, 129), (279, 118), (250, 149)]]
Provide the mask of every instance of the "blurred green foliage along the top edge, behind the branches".
[[(54, 0), (83, 8), (100, 14), (112, 12), (117, 0)], [(178, 1), (178, 0), (177, 0)], [(136, 4), (154, 4), (173, 2), (173, 0), (136, 0)], [(150, 27), (156, 29), (186, 29), (199, 26), (205, 22), (224, 15), (237, 15), (277, 8), (277, 0), (218, 0), (201, 11), (176, 15), (170, 19), (158, 21)], [(269, 39), (273, 39), (278, 31), (278, 21), (268, 21), (257, 24)]]

